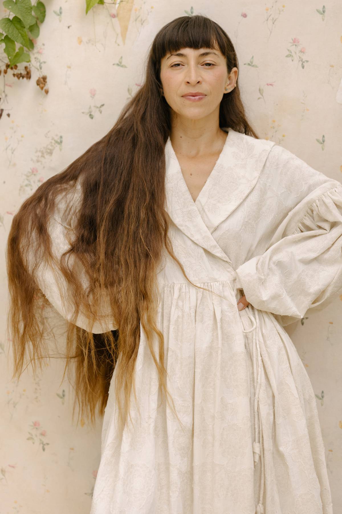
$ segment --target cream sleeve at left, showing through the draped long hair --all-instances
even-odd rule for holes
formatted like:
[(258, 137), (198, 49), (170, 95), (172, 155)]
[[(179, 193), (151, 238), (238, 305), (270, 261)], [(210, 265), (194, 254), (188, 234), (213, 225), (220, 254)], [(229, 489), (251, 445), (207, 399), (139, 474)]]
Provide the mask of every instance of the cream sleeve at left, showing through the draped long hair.
[[(73, 201), (79, 198), (79, 196), (75, 197), (77, 193), (79, 193), (79, 188), (74, 192)], [(70, 234), (72, 229), (64, 218), (65, 207), (68, 201), (70, 201), (70, 198), (68, 199), (67, 197), (64, 197), (63, 200), (59, 200), (56, 204), (54, 214), (49, 219), (48, 231), (51, 236), (51, 249), (53, 256), (57, 260), (61, 258), (64, 251), (70, 248), (67, 234)], [(31, 249), (32, 252), (34, 252), (34, 246), (32, 246)], [(33, 255), (32, 258), (34, 259)], [(76, 262), (74, 256), (71, 255), (68, 265), (71, 267), (76, 266), (79, 278), (86, 291), (88, 280), (82, 263), (79, 262), (79, 260)], [(59, 270), (53, 262), (42, 260), (35, 271), (34, 277), (39, 289), (43, 291), (47, 300), (63, 318), (71, 321), (74, 313), (74, 305), (72, 304), (68, 283), (61, 270)], [(96, 313), (96, 321), (92, 327), (90, 326), (90, 320), (82, 314), (81, 309), (75, 324), (93, 334), (102, 334), (116, 330), (117, 325), (112, 320), (109, 302), (106, 301), (105, 295), (103, 295), (101, 301), (100, 311)]]

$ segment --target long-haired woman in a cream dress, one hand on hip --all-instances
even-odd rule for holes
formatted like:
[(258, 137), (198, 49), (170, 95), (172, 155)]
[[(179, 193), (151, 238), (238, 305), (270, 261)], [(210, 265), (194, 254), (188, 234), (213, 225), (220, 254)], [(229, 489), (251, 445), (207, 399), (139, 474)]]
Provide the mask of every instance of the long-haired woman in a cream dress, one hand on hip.
[(91, 514), (332, 513), (283, 325), (342, 287), (342, 185), (257, 137), (237, 74), (215, 22), (168, 23), (111, 131), (13, 219), (15, 374), (52, 304), (82, 413), (106, 407)]

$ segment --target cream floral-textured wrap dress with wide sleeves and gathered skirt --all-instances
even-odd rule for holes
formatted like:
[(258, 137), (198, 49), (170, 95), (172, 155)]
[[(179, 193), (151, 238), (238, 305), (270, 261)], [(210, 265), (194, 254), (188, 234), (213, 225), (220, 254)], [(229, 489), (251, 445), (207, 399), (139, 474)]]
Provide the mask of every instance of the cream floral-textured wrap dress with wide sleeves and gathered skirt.
[[(117, 431), (112, 379), (90, 514), (333, 512), (315, 395), (283, 327), (342, 289), (342, 185), (273, 141), (224, 130), (195, 202), (170, 138), (165, 147), (173, 249), (190, 280), (209, 289), (163, 254), (157, 323), (184, 430), (165, 398), (160, 405), (141, 331), (141, 417), (132, 393), (134, 426)], [(63, 209), (61, 201), (51, 224), (56, 253), (68, 247)], [(45, 267), (41, 279), (69, 318), (61, 277)], [(244, 294), (250, 304), (238, 311)], [(104, 323), (93, 332), (116, 328)], [(87, 328), (82, 316), (77, 324)]]

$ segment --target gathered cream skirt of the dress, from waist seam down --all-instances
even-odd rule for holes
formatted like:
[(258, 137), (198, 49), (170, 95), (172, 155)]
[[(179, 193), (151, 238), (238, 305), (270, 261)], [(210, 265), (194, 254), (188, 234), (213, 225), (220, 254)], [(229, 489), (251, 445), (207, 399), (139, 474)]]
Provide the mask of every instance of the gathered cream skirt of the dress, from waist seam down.
[[(238, 311), (229, 281), (163, 284), (167, 388), (161, 403), (140, 326), (139, 411), (117, 430), (114, 377), (90, 514), (332, 514), (316, 399), (271, 313)], [(216, 296), (213, 293), (218, 293)], [(158, 358), (158, 343), (155, 341)]]

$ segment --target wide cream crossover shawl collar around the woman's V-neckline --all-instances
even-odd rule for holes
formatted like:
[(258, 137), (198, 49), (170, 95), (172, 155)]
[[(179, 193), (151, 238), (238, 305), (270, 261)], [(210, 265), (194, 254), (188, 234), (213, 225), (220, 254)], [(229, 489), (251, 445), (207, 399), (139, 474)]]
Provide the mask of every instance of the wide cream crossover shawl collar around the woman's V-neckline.
[(223, 130), (228, 132), (223, 150), (195, 202), (168, 137), (165, 187), (173, 223), (192, 241), (231, 264), (212, 232), (253, 189), (275, 142), (255, 139), (232, 128)]

